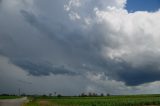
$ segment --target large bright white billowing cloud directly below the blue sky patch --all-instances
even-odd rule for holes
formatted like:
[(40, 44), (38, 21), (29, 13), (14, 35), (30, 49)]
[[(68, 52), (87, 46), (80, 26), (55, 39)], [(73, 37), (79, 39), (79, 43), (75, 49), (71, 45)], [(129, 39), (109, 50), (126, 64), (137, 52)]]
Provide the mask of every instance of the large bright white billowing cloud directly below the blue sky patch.
[[(159, 57), (160, 50), (160, 18), (159, 12), (135, 12), (108, 8), (107, 11), (95, 9), (97, 23), (103, 24), (106, 42), (111, 41), (112, 47), (106, 45), (103, 55), (114, 59), (121, 58), (132, 64), (143, 64), (147, 61), (142, 55)], [(104, 31), (104, 32), (105, 32)], [(151, 59), (150, 58), (150, 59)]]

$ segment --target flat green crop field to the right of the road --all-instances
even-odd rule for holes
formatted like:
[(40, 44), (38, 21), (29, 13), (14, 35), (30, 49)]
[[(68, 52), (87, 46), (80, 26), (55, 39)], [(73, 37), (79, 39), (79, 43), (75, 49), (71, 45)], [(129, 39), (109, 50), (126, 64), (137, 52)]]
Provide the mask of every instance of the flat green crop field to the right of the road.
[(160, 95), (33, 97), (24, 106), (160, 106)]

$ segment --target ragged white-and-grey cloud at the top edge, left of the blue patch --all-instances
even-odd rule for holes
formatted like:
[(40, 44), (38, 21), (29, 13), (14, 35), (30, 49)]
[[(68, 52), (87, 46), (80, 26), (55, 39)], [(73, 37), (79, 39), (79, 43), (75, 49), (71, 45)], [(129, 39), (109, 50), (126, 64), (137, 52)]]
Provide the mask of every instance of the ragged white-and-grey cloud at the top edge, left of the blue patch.
[[(69, 2), (64, 5), (64, 10), (69, 12), (69, 16), (74, 13), (85, 19), (86, 17), (91, 16), (94, 8), (98, 8), (100, 10), (106, 10), (107, 8), (123, 9), (125, 4), (126, 0), (69, 0)], [(71, 20), (73, 20), (73, 15)]]

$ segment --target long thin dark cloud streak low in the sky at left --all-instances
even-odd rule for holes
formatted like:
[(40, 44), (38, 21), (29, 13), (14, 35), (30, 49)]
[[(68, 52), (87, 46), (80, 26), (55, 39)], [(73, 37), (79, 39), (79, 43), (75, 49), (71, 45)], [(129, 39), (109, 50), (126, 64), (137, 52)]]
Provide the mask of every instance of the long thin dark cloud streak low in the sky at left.
[(13, 64), (26, 70), (30, 75), (33, 76), (48, 76), (50, 74), (55, 75), (76, 75), (75, 72), (65, 68), (64, 66), (53, 66), (48, 62), (31, 62), (28, 60), (17, 61), (13, 60)]

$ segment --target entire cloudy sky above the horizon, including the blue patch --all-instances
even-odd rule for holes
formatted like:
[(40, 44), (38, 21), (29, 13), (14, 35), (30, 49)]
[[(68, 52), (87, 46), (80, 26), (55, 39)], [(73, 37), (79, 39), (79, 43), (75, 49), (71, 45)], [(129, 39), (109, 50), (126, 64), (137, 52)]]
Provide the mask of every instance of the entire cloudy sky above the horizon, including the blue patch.
[(159, 8), (158, 0), (0, 0), (0, 94), (159, 93)]

